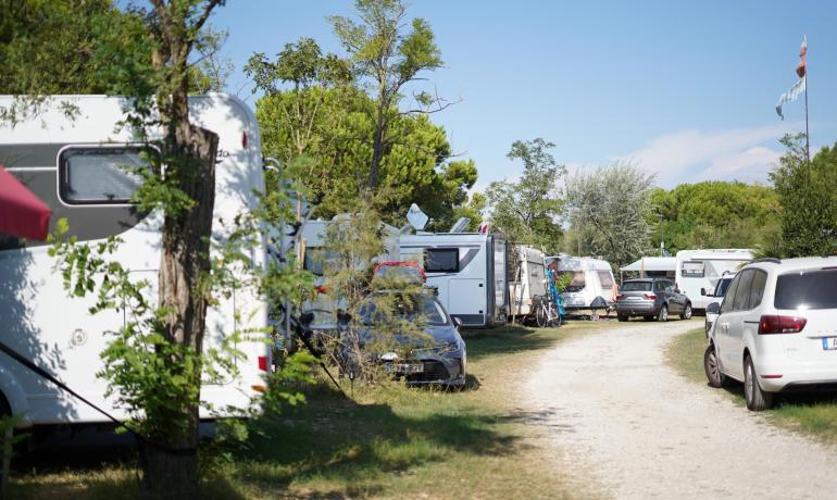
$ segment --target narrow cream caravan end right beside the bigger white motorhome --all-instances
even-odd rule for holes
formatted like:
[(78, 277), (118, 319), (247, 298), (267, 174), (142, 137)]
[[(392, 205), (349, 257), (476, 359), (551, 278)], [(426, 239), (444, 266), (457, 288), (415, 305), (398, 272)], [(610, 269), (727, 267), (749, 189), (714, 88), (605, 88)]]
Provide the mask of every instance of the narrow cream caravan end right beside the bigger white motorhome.
[(544, 252), (532, 247), (514, 246), (509, 252), (509, 315), (526, 321), (535, 314), (533, 299), (547, 295)]

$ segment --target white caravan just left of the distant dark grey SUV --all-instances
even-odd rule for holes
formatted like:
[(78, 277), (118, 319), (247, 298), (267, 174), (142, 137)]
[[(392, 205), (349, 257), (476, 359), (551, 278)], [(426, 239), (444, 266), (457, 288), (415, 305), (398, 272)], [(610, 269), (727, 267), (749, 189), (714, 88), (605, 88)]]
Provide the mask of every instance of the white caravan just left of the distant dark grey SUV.
[(548, 257), (547, 265), (566, 279), (561, 293), (567, 311), (602, 310), (613, 301), (613, 271), (610, 263), (589, 257)]

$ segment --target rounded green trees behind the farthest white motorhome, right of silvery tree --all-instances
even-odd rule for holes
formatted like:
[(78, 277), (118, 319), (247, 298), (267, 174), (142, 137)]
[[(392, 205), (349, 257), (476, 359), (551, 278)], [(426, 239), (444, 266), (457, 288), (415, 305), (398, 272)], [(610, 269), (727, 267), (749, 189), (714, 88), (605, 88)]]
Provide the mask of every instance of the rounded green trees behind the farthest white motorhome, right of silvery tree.
[[(708, 180), (654, 189), (650, 222), (659, 242), (675, 253), (692, 248), (753, 248), (778, 222), (779, 205), (770, 186)], [(662, 223), (661, 217), (662, 216)]]

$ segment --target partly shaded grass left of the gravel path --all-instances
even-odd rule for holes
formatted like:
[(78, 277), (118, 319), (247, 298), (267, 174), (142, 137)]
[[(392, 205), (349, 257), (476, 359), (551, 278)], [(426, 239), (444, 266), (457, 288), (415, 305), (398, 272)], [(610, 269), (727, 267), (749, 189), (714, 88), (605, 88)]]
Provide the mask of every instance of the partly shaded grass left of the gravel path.
[[(615, 322), (613, 323), (615, 324)], [(515, 403), (539, 351), (594, 327), (503, 328), (466, 337), (471, 387), (405, 387), (343, 398), (323, 382), (308, 403), (251, 425), (249, 447), (203, 485), (208, 498), (567, 498), (584, 496), (549, 460)], [(348, 390), (348, 387), (347, 387)], [(24, 475), (21, 498), (138, 497), (130, 466)]]

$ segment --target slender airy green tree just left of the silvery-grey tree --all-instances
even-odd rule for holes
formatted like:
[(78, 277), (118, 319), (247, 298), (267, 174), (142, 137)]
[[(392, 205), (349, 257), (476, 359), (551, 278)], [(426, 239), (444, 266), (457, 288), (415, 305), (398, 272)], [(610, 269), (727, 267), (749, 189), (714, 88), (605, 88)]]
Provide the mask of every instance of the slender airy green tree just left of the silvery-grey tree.
[(520, 180), (494, 182), (486, 190), (491, 224), (510, 241), (558, 250), (563, 201), (558, 182), (565, 170), (549, 152), (555, 145), (537, 138), (514, 141), (507, 154), (523, 162)]

